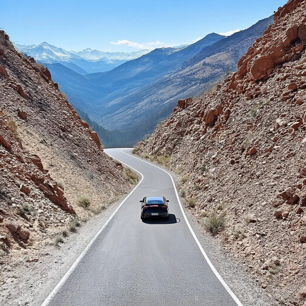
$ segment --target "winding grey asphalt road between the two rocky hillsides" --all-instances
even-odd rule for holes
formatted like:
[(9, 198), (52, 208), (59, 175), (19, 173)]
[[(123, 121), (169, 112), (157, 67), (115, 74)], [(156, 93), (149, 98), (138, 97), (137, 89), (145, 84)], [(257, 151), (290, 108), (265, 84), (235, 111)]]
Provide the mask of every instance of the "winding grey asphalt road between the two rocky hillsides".
[[(171, 177), (130, 149), (105, 151), (139, 171), (142, 181), (43, 305), (241, 306), (205, 260)], [(169, 220), (142, 221), (144, 196), (165, 196)]]

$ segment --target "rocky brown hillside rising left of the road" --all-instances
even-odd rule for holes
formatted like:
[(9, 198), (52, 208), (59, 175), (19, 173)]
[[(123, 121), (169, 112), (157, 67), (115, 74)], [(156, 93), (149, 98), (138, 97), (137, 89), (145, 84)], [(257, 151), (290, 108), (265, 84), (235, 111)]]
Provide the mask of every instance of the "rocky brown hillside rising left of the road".
[(4, 264), (12, 263), (12, 256), (22, 262), (22, 250), (52, 242), (71, 222), (102, 211), (132, 184), (122, 166), (103, 152), (99, 137), (58, 90), (49, 70), (18, 53), (3, 31), (0, 102)]

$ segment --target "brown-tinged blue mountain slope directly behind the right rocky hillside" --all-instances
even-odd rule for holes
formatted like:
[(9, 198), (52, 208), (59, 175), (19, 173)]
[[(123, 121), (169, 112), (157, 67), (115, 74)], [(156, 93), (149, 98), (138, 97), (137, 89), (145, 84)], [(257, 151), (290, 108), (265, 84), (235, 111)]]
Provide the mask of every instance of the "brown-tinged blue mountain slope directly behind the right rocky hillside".
[(155, 121), (157, 124), (160, 118), (171, 113), (178, 99), (199, 95), (212, 83), (223, 78), (227, 71), (235, 71), (241, 56), (271, 22), (273, 16), (258, 21), (246, 30), (218, 40), (211, 46), (204, 47), (194, 57), (185, 61), (179, 69), (135, 91), (109, 102), (106, 96), (104, 101), (108, 103), (96, 108), (96, 112), (104, 116), (96, 120), (103, 122), (106, 128), (112, 126), (125, 130), (134, 127), (135, 130), (142, 130), (144, 134), (151, 132), (152, 127), (148, 126), (147, 129), (143, 129), (143, 126), (137, 127), (142, 125), (140, 122), (150, 112), (158, 110), (159, 115), (156, 115)]

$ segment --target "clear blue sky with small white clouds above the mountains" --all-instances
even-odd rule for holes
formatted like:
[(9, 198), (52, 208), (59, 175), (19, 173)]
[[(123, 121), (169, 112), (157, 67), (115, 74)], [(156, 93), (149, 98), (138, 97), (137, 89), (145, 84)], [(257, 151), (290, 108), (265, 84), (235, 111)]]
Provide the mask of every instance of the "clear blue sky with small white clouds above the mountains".
[[(208, 33), (245, 29), (284, 0), (3, 1), (0, 28), (13, 42), (65, 50), (132, 52), (190, 44)], [(112, 42), (112, 43), (111, 43)]]

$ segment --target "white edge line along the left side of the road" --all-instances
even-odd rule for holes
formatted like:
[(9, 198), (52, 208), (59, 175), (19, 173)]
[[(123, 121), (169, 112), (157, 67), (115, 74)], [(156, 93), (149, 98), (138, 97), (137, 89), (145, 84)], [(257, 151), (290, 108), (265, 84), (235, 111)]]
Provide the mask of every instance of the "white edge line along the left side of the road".
[[(110, 155), (110, 154), (109, 154)], [(111, 156), (111, 155), (110, 155)], [(113, 156), (111, 156), (113, 157)], [(115, 157), (113, 157), (114, 159), (116, 159)], [(118, 159), (117, 159), (118, 160)], [(120, 162), (120, 161), (119, 161)], [(123, 162), (122, 162), (123, 163)], [(125, 164), (125, 163), (123, 163)], [(126, 164), (125, 164), (126, 165)], [(128, 165), (127, 165), (128, 166)], [(75, 270), (76, 266), (78, 265), (78, 263), (82, 260), (82, 258), (84, 257), (84, 255), (87, 253), (88, 249), (91, 247), (91, 245), (95, 242), (95, 240), (97, 239), (97, 237), (101, 234), (101, 232), (105, 229), (105, 227), (107, 226), (107, 224), (110, 222), (110, 220), (114, 217), (114, 215), (116, 214), (116, 212), (119, 210), (119, 208), (122, 206), (122, 204), (127, 200), (127, 198), (134, 192), (134, 190), (140, 185), (140, 183), (143, 181), (144, 176), (142, 175), (142, 173), (140, 173), (139, 171), (137, 171), (136, 169), (132, 168), (129, 166), (129, 168), (131, 168), (132, 170), (138, 172), (141, 175), (141, 180), (140, 182), (133, 188), (133, 190), (126, 196), (126, 198), (120, 203), (120, 205), (114, 210), (114, 212), (110, 215), (110, 217), (107, 219), (107, 221), (103, 224), (103, 226), (101, 227), (101, 229), (99, 230), (99, 232), (95, 235), (95, 237), (93, 237), (91, 239), (91, 241), (89, 242), (89, 244), (87, 245), (87, 247), (83, 250), (83, 252), (80, 254), (80, 256), (76, 259), (76, 261), (72, 264), (72, 266), (69, 268), (69, 270), (66, 272), (66, 274), (63, 276), (63, 278), (58, 282), (58, 284), (56, 285), (56, 287), (51, 291), (51, 293), (48, 295), (48, 297), (46, 298), (46, 300), (44, 300), (43, 304), (41, 304), (41, 306), (47, 306), (50, 301), (54, 298), (54, 296), (58, 293), (59, 289), (61, 289), (61, 287), (64, 285), (64, 283), (67, 281), (67, 279), (69, 278), (69, 276), (71, 275), (71, 273)]]

